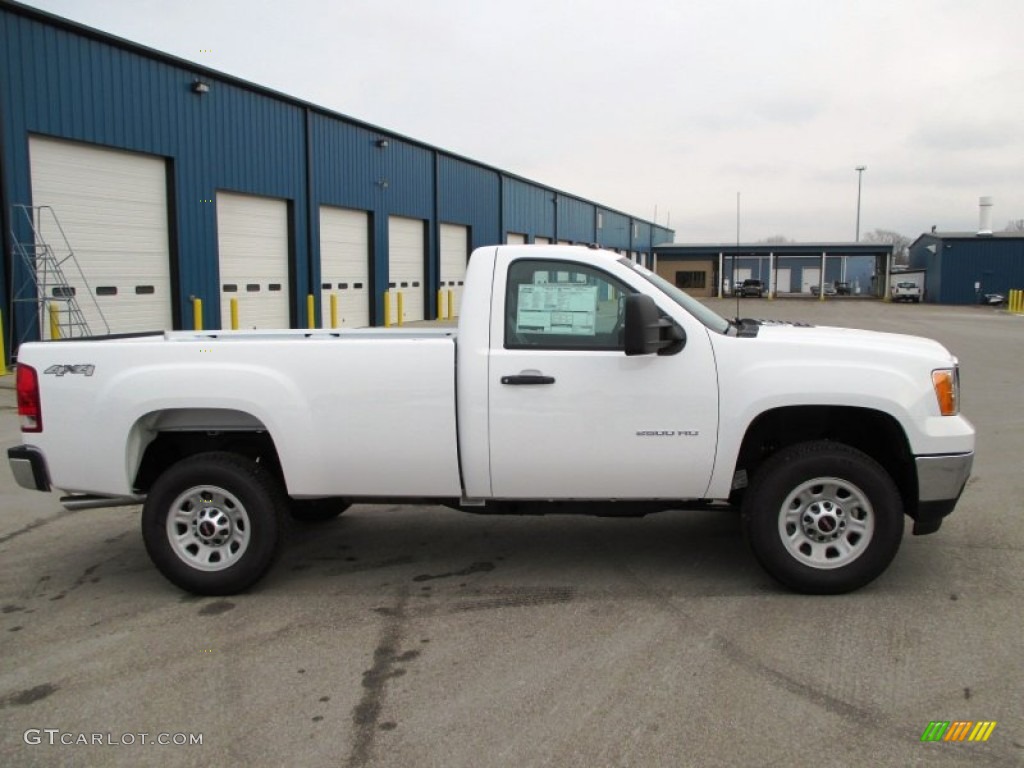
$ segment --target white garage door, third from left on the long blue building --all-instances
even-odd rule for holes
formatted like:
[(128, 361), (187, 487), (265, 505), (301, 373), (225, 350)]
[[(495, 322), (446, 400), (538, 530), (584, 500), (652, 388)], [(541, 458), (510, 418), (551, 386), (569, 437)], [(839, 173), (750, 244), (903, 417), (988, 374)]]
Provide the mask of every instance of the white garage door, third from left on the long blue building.
[(370, 325), (370, 215), (321, 206), (321, 325), (331, 328), (331, 296), (338, 328)]

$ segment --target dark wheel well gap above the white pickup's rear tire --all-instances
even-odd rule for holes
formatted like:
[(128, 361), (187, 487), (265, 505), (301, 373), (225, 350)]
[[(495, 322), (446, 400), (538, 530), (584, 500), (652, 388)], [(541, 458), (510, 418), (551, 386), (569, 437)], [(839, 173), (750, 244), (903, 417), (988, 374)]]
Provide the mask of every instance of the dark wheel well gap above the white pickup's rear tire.
[(158, 432), (156, 438), (146, 445), (138, 472), (135, 473), (135, 492), (147, 493), (168, 467), (189, 456), (209, 451), (226, 451), (244, 456), (266, 467), (284, 483), (278, 450), (266, 431), (174, 431)]

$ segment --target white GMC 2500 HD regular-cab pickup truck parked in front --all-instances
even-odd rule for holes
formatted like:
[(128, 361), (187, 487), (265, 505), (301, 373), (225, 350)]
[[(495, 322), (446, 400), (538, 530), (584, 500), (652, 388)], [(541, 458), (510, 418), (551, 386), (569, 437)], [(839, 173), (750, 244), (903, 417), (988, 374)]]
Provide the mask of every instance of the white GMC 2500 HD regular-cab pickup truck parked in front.
[(287, 515), (737, 509), (792, 589), (870, 582), (971, 471), (935, 341), (727, 321), (614, 253), (495, 246), (459, 329), (168, 332), (24, 344), (18, 482), (142, 504), (146, 550), (201, 594), (255, 583)]

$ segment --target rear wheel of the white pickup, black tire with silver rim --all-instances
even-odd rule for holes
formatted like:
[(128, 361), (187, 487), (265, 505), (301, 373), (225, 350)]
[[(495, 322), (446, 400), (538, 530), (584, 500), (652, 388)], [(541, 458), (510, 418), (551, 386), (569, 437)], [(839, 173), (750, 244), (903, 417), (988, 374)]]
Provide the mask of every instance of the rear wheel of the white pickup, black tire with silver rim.
[(232, 595), (273, 562), (287, 502), (259, 464), (238, 454), (197, 454), (153, 483), (142, 541), (172, 584), (198, 595)]

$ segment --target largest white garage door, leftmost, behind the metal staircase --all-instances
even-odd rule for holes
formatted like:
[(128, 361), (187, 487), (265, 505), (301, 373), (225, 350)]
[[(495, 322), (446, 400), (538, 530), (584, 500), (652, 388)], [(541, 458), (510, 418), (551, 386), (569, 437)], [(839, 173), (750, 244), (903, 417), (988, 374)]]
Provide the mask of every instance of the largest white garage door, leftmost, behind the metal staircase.
[[(103, 334), (108, 325), (111, 333), (170, 329), (164, 159), (41, 136), (30, 137), (29, 156), (32, 203), (53, 208), (85, 275), (83, 283), (70, 263), (63, 265), (89, 331)], [(52, 221), (44, 213), (42, 236), (59, 259), (67, 251)], [(43, 326), (48, 338), (49, 324)]]

